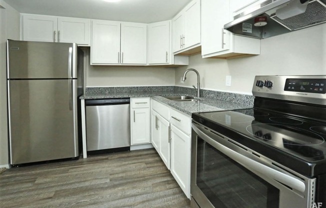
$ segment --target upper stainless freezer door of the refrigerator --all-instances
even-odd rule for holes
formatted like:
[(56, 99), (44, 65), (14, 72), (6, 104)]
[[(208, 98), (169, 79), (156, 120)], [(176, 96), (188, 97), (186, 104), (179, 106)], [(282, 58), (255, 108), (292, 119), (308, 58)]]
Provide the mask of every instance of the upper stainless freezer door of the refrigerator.
[(75, 43), (7, 40), (7, 77), (76, 78)]

